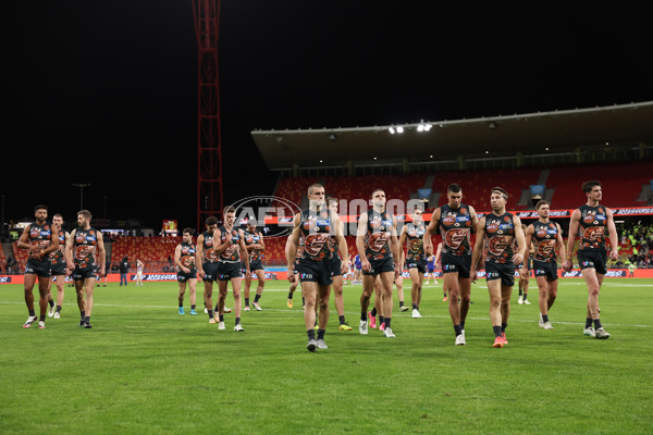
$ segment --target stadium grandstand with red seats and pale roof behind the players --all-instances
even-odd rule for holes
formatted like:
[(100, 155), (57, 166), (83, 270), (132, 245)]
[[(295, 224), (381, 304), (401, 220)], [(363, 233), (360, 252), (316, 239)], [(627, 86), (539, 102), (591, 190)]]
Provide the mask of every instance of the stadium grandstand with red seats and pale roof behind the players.
[[(304, 209), (307, 186), (321, 183), (341, 200), (367, 200), (380, 187), (389, 200), (422, 201), (428, 216), (446, 202), (446, 187), (457, 183), (465, 202), (479, 212), (490, 211), (488, 189), (495, 185), (508, 191), (508, 210), (532, 210), (540, 199), (552, 210), (569, 210), (583, 202), (581, 184), (597, 178), (607, 207), (644, 208), (637, 219), (650, 223), (652, 119), (649, 101), (404, 125), (254, 130), (251, 137), (268, 169), (279, 174), (276, 185), (260, 192), (276, 198), (267, 207), (289, 201)], [(568, 216), (557, 221), (568, 226)], [(346, 239), (355, 256), (355, 236)], [(285, 264), (285, 240), (266, 238), (267, 264)], [(138, 258), (146, 272), (160, 273), (174, 271), (171, 259), (180, 241), (178, 236), (118, 236), (106, 246), (110, 264), (126, 257), (134, 269)], [(625, 239), (621, 252), (632, 252), (631, 245)], [(15, 241), (3, 248), (2, 264), (13, 256), (23, 271), (27, 252)]]

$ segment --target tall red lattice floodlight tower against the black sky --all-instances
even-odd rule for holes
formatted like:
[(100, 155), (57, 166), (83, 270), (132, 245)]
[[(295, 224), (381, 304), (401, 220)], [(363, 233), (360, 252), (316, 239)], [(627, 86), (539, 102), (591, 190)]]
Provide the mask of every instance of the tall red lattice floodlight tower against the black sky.
[(193, 0), (197, 38), (197, 231), (208, 216), (221, 217), (222, 145), (218, 86), (220, 0)]

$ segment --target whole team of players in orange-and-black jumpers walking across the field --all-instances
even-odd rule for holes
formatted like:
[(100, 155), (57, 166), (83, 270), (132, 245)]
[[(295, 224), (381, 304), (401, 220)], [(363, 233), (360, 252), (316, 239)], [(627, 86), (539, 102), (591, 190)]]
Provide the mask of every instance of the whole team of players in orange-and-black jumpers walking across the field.
[[(356, 248), (362, 271), (362, 294), (360, 296), (360, 321), (358, 331), (368, 335), (369, 327), (379, 328), (387, 338), (394, 338), (392, 330), (393, 297), (395, 281), (402, 276), (406, 264), (412, 286), (412, 316), (420, 316), (419, 303), (421, 287), (427, 272), (427, 258), (433, 256), (431, 237), (442, 235), (441, 261), (444, 275), (444, 291), (448, 293), (448, 311), (454, 326), (455, 345), (466, 344), (465, 321), (469, 311), (471, 283), (484, 269), (490, 295), (490, 320), (494, 332), (493, 346), (507, 345), (506, 327), (510, 313), (510, 295), (515, 284), (515, 270), (528, 269), (525, 259), (527, 247), (533, 253), (532, 270), (539, 288), (540, 326), (552, 330), (549, 310), (557, 296), (557, 256), (565, 259), (563, 269), (572, 268), (571, 253), (576, 238), (580, 239), (578, 262), (588, 285), (587, 320), (583, 334), (596, 338), (607, 338), (609, 334), (602, 327), (599, 309), (599, 291), (606, 273), (607, 251), (605, 237), (609, 237), (609, 257), (617, 258), (617, 235), (612, 211), (600, 204), (601, 183), (591, 181), (583, 184), (587, 203), (574, 211), (569, 226), (567, 247), (564, 246), (562, 228), (549, 219), (549, 203), (537, 204), (539, 220), (526, 227), (519, 217), (506, 211), (508, 194), (501, 187), (490, 190), (492, 212), (477, 215), (473, 207), (463, 202), (463, 190), (457, 184), (447, 188), (447, 203), (435, 209), (430, 223), (422, 219), (422, 210), (415, 208), (411, 222), (406, 223), (397, 235), (396, 217), (386, 211), (386, 197), (382, 189), (371, 194), (372, 208), (358, 219)], [(326, 198), (324, 187), (313, 184), (308, 187), (309, 208), (297, 213), (293, 221), (293, 232), (286, 241), (285, 254), (288, 264), (292, 295), (301, 285), (304, 321), (308, 336), (307, 349), (326, 349), (324, 334), (329, 321), (329, 297), (335, 289), (335, 306), (340, 328), (350, 330), (345, 322), (343, 304), (343, 275), (349, 269), (349, 256), (344, 236), (344, 224), (337, 214), (337, 199)], [(62, 217), (54, 215), (47, 223), (47, 207), (35, 208), (36, 223), (27, 226), (21, 236), (19, 247), (29, 250), (25, 270), (25, 302), (29, 311), (24, 327), (30, 327), (37, 316), (34, 310), (33, 288), (38, 281), (40, 294), (39, 327), (45, 327), (51, 276), (57, 276), (57, 285), (63, 287), (66, 269), (77, 290), (77, 304), (81, 312), (79, 326), (90, 328), (93, 310), (93, 288), (99, 272), (104, 275), (104, 247), (101, 232), (90, 226), (90, 212), (77, 214), (78, 227), (71, 234), (61, 229)], [(186, 284), (190, 290), (192, 314), (196, 312), (197, 278), (204, 281), (205, 312), (210, 323), (218, 323), (224, 330), (224, 313), (227, 284), (232, 283), (234, 297), (234, 331), (242, 332), (241, 285), (245, 276), (245, 311), (249, 311), (251, 274), (257, 275), (257, 290), (252, 307), (261, 310), (259, 299), (264, 288), (264, 269), (261, 252), (264, 250), (262, 234), (250, 220), (245, 229), (234, 227), (235, 209), (227, 207), (224, 225), (218, 227), (218, 220), (209, 217), (206, 231), (193, 244), (193, 231), (183, 231), (183, 241), (176, 246), (174, 261), (180, 283), (180, 314), (184, 314), (183, 300)], [(526, 231), (523, 231), (526, 227)], [(471, 235), (476, 243), (471, 246)], [(404, 245), (406, 251), (404, 251)], [(532, 248), (531, 248), (532, 247)], [(344, 261), (341, 261), (343, 259)], [(395, 261), (398, 259), (398, 261)], [(96, 263), (97, 260), (97, 263)], [(99, 264), (99, 268), (98, 268)], [(244, 265), (244, 270), (242, 266)], [(213, 282), (218, 282), (218, 301), (213, 308)], [(63, 291), (58, 295), (56, 316), (59, 316)], [(374, 308), (368, 312), (372, 293)], [(61, 300), (60, 300), (61, 299)], [(52, 303), (52, 302), (50, 302)]]

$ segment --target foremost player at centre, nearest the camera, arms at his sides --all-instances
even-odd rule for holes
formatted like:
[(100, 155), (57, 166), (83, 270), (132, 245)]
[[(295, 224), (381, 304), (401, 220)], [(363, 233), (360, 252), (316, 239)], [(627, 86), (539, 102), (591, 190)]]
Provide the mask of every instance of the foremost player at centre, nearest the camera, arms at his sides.
[[(304, 324), (309, 351), (328, 349), (324, 333), (329, 323), (329, 296), (331, 294), (332, 266), (330, 264), (331, 250), (329, 238), (334, 235), (342, 258), (347, 257), (346, 243), (342, 234), (340, 217), (332, 213), (324, 201), (324, 186), (312, 184), (308, 187), (309, 207), (297, 213), (293, 220), (293, 233), (288, 237), (286, 262), (288, 282), (295, 281), (293, 263), (297, 252), (299, 239), (304, 237), (304, 253), (299, 259), (299, 281), (301, 295), (305, 299)], [(346, 262), (341, 264), (341, 273), (349, 269)], [(318, 335), (316, 339), (316, 303), (320, 304)]]

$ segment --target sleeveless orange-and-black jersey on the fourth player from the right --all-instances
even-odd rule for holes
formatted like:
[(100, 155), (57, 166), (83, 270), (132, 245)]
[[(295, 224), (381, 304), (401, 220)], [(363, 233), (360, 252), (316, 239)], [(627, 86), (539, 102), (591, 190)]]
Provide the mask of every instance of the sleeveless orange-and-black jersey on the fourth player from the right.
[(469, 206), (460, 204), (459, 209), (452, 209), (448, 204), (442, 206), (440, 208), (440, 233), (442, 234), (443, 253), (452, 256), (471, 253)]

